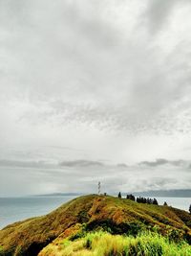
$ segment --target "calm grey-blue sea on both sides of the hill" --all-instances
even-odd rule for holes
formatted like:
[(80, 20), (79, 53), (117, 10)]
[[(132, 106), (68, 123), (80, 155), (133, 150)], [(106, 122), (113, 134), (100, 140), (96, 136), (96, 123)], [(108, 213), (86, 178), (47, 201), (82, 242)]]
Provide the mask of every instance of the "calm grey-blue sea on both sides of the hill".
[[(15, 221), (23, 221), (48, 214), (75, 197), (0, 198), (0, 229)], [(188, 211), (191, 204), (191, 198), (157, 198), (157, 200), (160, 205), (163, 205), (163, 202), (166, 201), (169, 206), (185, 211)]]

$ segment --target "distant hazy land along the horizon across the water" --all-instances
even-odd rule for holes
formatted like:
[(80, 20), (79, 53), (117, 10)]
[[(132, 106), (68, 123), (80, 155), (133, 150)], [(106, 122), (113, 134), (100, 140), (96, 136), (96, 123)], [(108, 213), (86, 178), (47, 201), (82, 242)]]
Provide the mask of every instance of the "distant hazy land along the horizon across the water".
[[(117, 195), (117, 193), (109, 193), (110, 195)], [(140, 192), (122, 193), (125, 197), (127, 194), (133, 194), (136, 197), (156, 197), (156, 198), (191, 198), (191, 189), (176, 189), (176, 190), (150, 190)], [(52, 193), (35, 195), (35, 197), (76, 197), (83, 196), (84, 193)]]

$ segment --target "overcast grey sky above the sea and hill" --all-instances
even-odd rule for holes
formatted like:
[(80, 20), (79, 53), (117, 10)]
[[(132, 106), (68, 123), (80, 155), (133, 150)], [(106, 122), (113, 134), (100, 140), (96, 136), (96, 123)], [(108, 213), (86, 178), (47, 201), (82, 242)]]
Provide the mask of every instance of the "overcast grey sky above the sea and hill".
[(0, 197), (189, 189), (189, 0), (0, 0)]

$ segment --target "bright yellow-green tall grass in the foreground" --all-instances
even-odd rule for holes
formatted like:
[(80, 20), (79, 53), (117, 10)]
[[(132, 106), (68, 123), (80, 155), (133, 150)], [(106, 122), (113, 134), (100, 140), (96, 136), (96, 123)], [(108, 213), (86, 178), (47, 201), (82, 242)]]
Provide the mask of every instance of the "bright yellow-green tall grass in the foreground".
[(135, 237), (112, 235), (106, 232), (88, 233), (84, 238), (60, 241), (44, 248), (39, 256), (190, 256), (191, 246), (175, 244), (157, 233)]

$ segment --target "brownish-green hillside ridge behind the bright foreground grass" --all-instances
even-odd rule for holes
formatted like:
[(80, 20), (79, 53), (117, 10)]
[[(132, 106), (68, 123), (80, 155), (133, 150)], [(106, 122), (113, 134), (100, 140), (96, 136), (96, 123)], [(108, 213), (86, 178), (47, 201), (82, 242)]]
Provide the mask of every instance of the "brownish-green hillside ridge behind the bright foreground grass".
[(2, 229), (0, 255), (35, 256), (52, 242), (69, 237), (75, 240), (100, 229), (113, 235), (133, 236), (140, 231), (158, 231), (173, 240), (186, 237), (189, 241), (191, 216), (172, 207), (130, 199), (96, 195), (75, 198), (46, 216)]

